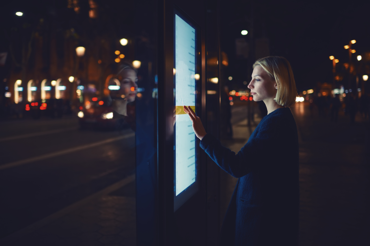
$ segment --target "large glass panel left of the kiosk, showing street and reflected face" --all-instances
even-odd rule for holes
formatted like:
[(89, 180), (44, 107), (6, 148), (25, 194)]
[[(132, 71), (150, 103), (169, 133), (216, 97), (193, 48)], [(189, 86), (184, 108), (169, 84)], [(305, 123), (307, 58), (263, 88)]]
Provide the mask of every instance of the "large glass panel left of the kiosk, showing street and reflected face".
[(21, 8), (0, 43), (0, 240), (152, 241), (157, 2)]

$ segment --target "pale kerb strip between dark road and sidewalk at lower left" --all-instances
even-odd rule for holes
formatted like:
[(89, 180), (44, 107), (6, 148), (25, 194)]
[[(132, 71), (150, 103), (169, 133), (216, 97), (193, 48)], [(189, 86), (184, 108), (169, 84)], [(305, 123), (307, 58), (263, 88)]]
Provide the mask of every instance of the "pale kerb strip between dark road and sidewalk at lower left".
[(30, 235), (31, 233), (37, 231), (38, 229), (43, 228), (44, 226), (47, 226), (51, 222), (70, 214), (71, 212), (77, 210), (78, 208), (91, 204), (94, 200), (112, 193), (115, 190), (118, 190), (121, 187), (124, 187), (125, 185), (133, 182), (135, 180), (135, 174), (131, 174), (130, 176), (127, 176), (125, 179), (122, 179), (118, 181), (117, 183), (112, 184), (111, 186), (108, 186), (107, 188), (104, 188), (103, 190), (98, 191), (97, 193), (94, 193), (92, 195), (89, 195), (88, 197), (83, 198), (80, 201), (75, 202), (74, 204), (69, 205), (68, 207), (62, 208), (58, 212), (55, 212), (54, 214), (51, 214), (47, 216), (44, 219), (41, 219), (40, 221), (35, 222), (34, 224), (31, 224), (27, 226), (26, 228), (23, 228), (17, 232), (14, 232), (10, 234), (9, 236), (6, 236), (5, 238), (0, 239), (1, 245), (9, 245), (10, 243), (13, 243), (16, 240), (19, 240), (20, 238), (23, 238), (26, 235)]

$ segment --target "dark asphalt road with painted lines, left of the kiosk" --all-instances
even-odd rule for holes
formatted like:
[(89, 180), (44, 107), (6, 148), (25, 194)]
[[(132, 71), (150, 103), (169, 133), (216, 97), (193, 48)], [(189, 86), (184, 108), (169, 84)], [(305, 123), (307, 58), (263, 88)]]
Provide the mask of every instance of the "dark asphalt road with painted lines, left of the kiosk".
[(135, 173), (135, 138), (77, 117), (1, 122), (1, 237)]

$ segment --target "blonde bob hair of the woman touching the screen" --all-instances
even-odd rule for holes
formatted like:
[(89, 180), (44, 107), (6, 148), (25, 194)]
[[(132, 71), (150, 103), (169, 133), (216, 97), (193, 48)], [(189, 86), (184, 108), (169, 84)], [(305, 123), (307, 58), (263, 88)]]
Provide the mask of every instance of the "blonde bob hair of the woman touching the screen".
[(297, 89), (292, 67), (282, 56), (267, 56), (256, 60), (253, 68), (261, 66), (277, 84), (274, 100), (277, 104), (291, 107), (296, 103)]

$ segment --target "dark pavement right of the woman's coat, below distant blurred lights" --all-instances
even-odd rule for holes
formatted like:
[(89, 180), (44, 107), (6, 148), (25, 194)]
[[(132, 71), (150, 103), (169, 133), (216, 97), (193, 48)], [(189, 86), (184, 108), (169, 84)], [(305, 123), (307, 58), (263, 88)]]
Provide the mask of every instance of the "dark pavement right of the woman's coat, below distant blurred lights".
[(292, 108), (301, 135), (300, 245), (369, 245), (369, 119)]

